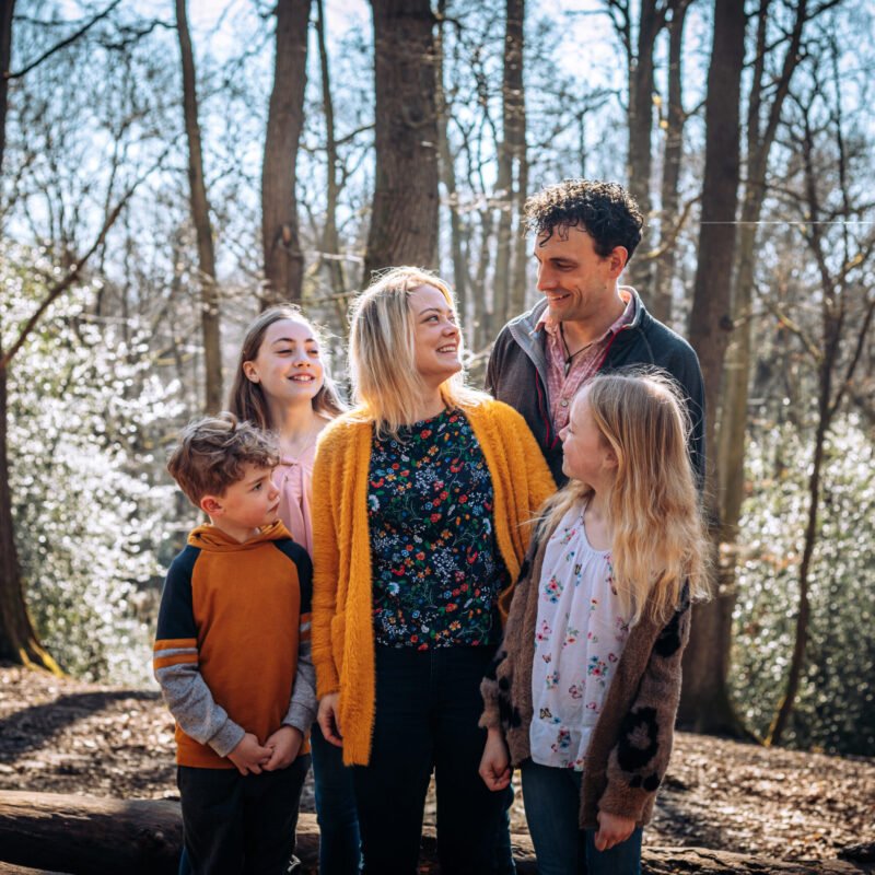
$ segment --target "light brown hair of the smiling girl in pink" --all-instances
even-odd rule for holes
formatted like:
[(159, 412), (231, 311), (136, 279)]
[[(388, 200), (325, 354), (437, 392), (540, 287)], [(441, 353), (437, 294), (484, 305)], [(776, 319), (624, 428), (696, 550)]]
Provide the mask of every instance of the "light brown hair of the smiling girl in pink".
[[(243, 370), (246, 362), (255, 361), (258, 358), (258, 351), (261, 349), (261, 343), (265, 339), (267, 329), (276, 322), (283, 319), (292, 319), (294, 322), (302, 322), (307, 325), (312, 331), (313, 337), (323, 347), (323, 338), (318, 328), (304, 316), (300, 307), (294, 304), (284, 304), (282, 306), (270, 307), (249, 324), (246, 329), (246, 336), (243, 338), (243, 345), (240, 349), (237, 357), (237, 366), (234, 371), (234, 384), (231, 386), (231, 392), (228, 396), (228, 409), (241, 420), (248, 420), (249, 422), (258, 425), (259, 429), (270, 431), (273, 423), (270, 421), (270, 410), (268, 408), (265, 390), (261, 388), (260, 383), (253, 383)], [(322, 358), (322, 353), (319, 355)], [(322, 388), (313, 396), (313, 409), (326, 417), (334, 419), (346, 410), (343, 402), (340, 400), (334, 381), (328, 374), (328, 368), (323, 360), (323, 383)]]

